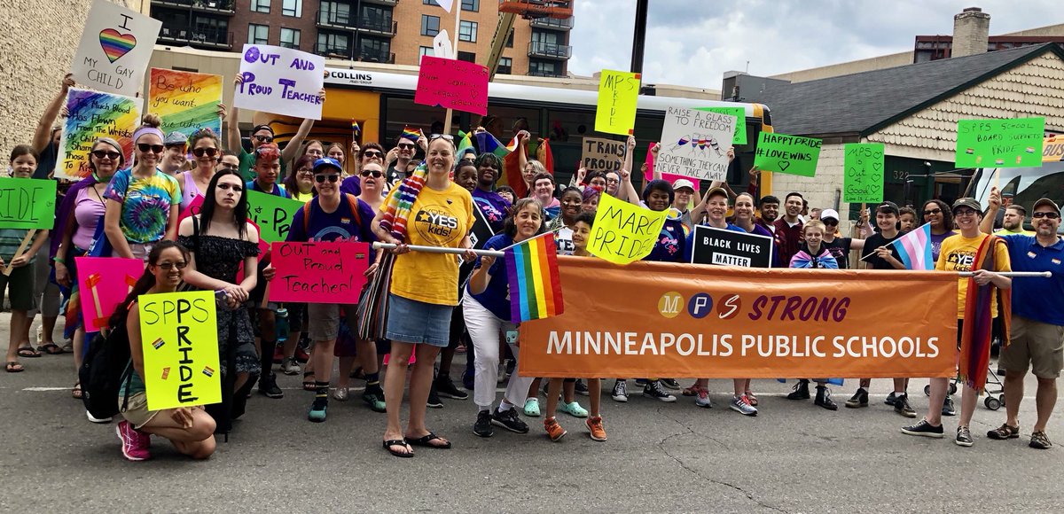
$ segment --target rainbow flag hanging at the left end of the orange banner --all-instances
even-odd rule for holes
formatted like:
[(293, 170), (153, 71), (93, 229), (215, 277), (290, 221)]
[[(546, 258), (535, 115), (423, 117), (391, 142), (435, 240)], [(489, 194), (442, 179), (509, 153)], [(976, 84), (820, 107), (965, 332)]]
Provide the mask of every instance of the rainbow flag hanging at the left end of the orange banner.
[(558, 277), (554, 234), (546, 233), (506, 249), (510, 320), (543, 319), (565, 311)]

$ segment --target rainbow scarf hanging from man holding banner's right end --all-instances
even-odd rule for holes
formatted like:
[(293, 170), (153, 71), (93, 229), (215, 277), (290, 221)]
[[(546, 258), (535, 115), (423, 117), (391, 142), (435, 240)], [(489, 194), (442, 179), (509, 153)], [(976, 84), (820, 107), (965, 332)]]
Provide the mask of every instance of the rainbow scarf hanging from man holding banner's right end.
[[(1004, 245), (995, 235), (990, 235), (979, 245), (971, 270), (985, 269), (993, 271), (994, 248)], [(982, 391), (986, 385), (986, 369), (991, 360), (991, 327), (994, 324), (992, 310), (996, 287), (993, 284), (978, 285), (974, 278), (968, 279), (968, 295), (964, 302), (964, 328), (961, 331), (961, 359), (958, 379), (965, 385)], [(1012, 295), (1009, 289), (1001, 289), (1001, 350), (1009, 346), (1009, 331), (1012, 326)]]

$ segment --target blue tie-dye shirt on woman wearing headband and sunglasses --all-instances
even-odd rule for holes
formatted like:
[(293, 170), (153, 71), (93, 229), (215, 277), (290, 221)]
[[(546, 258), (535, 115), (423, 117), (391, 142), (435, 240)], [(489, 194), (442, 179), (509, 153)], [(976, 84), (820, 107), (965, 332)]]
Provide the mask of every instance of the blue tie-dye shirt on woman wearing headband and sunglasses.
[(132, 169), (115, 173), (103, 197), (122, 204), (118, 226), (130, 243), (154, 243), (166, 235), (170, 205), (181, 203), (177, 179), (162, 171), (147, 179), (133, 177)]

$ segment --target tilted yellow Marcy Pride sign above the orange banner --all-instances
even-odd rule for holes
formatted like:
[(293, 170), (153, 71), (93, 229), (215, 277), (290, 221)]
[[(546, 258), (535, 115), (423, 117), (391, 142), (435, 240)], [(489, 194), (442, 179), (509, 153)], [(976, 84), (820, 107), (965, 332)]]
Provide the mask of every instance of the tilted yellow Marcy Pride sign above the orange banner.
[(628, 264), (650, 254), (668, 211), (654, 212), (602, 194), (587, 251), (614, 264)]

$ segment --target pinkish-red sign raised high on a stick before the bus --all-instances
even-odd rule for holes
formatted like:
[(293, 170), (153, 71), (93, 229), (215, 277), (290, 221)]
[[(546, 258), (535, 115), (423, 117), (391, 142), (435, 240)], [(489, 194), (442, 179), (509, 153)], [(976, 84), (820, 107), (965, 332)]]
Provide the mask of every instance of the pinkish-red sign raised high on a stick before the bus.
[(414, 103), (487, 114), (487, 68), (453, 59), (421, 56)]

